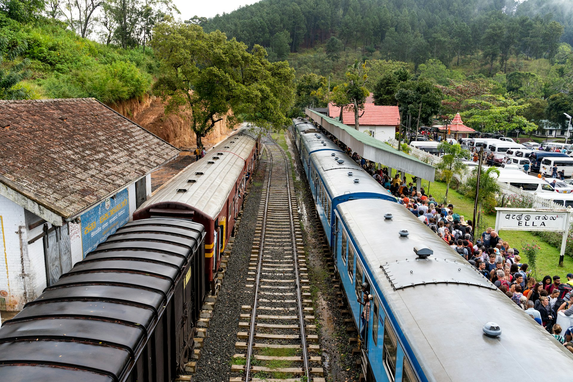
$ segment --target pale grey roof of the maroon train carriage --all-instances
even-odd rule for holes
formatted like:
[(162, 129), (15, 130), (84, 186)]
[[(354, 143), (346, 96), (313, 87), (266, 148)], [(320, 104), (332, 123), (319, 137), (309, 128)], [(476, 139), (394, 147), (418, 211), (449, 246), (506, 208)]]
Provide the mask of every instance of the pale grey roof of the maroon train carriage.
[(215, 219), (242, 175), (256, 140), (255, 133), (241, 128), (163, 184), (138, 210), (160, 202), (179, 202)]

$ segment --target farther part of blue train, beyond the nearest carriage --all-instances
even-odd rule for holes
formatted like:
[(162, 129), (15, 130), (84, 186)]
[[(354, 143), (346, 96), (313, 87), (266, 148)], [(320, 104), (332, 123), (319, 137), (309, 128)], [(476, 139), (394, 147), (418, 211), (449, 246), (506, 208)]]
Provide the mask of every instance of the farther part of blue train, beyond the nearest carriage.
[(354, 199), (397, 201), (312, 123), (294, 119), (293, 128), (295, 145), (329, 245), (332, 246), (333, 238), (332, 215), (339, 203)]

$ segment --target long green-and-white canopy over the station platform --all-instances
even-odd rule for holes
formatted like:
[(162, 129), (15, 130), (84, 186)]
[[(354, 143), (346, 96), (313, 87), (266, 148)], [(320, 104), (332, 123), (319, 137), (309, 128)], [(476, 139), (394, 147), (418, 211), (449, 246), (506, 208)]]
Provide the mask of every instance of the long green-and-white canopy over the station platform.
[(339, 120), (327, 117), (309, 108), (306, 109), (306, 114), (311, 120), (352, 148), (364, 159), (382, 163), (384, 166), (396, 168), (399, 171), (405, 171), (407, 174), (430, 180), (430, 182), (434, 181), (435, 168), (430, 164), (424, 163), (403, 151), (398, 151), (391, 145), (366, 133), (359, 132), (353, 127), (341, 123)]

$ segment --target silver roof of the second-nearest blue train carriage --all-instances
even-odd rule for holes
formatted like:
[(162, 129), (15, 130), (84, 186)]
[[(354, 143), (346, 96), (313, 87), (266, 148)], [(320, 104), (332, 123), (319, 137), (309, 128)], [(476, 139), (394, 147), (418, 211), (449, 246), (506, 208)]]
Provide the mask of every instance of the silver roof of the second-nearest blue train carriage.
[[(335, 154), (334, 156), (332, 154)], [(386, 198), (395, 200), (386, 188), (380, 186), (368, 172), (364, 171), (352, 158), (343, 152), (323, 150), (313, 152), (311, 162), (315, 164), (331, 198), (345, 194), (372, 193), (380, 194)], [(336, 157), (344, 160), (337, 162)], [(352, 175), (348, 175), (352, 172)], [(358, 179), (358, 183), (355, 182)]]

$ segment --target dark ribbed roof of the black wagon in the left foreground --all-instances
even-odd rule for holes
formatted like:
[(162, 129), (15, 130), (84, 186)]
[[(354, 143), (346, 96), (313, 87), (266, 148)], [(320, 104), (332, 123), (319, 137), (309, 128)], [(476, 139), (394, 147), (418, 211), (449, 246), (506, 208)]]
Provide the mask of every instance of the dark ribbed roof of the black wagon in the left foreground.
[(122, 380), (203, 231), (200, 224), (168, 218), (118, 229), (2, 325), (0, 379)]

